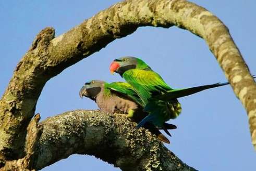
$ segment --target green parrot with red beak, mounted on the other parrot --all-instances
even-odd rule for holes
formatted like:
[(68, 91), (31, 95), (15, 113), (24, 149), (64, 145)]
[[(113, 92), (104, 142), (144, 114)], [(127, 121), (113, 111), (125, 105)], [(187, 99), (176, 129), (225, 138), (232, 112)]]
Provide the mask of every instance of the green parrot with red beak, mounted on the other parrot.
[(217, 83), (192, 88), (173, 89), (147, 63), (136, 57), (115, 59), (109, 69), (112, 73), (120, 74), (134, 88), (142, 101), (143, 110), (149, 113), (138, 124), (138, 128), (150, 122), (156, 127), (162, 127), (166, 130), (163, 123), (170, 119), (175, 119), (181, 112), (181, 105), (177, 98), (229, 84)]

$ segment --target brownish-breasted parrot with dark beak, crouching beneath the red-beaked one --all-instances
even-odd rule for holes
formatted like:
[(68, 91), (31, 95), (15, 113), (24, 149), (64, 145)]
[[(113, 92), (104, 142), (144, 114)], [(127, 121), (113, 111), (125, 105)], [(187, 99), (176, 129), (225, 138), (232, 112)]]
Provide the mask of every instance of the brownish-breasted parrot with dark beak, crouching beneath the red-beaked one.
[[(128, 83), (107, 83), (101, 80), (92, 80), (84, 84), (79, 91), (79, 96), (94, 100), (103, 112), (127, 114), (129, 119), (137, 123), (148, 115), (147, 112), (143, 111), (141, 99)], [(164, 123), (164, 126), (166, 129), (176, 129), (173, 124)], [(159, 140), (170, 143), (168, 138), (159, 131), (160, 127), (155, 127), (150, 123), (144, 127), (156, 135)]]

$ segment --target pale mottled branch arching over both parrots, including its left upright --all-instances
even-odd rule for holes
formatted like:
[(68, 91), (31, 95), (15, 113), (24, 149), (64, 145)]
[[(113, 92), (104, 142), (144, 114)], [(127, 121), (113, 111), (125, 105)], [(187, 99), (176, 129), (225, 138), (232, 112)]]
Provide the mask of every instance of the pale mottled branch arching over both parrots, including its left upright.
[(130, 0), (99, 12), (58, 37), (54, 38), (53, 28), (46, 28), (36, 36), (0, 101), (0, 166), (28, 156), (27, 128), (41, 90), (50, 78), (116, 38), (146, 25), (163, 28), (176, 25), (206, 41), (247, 110), (256, 148), (256, 85), (225, 25), (211, 12), (185, 0)]

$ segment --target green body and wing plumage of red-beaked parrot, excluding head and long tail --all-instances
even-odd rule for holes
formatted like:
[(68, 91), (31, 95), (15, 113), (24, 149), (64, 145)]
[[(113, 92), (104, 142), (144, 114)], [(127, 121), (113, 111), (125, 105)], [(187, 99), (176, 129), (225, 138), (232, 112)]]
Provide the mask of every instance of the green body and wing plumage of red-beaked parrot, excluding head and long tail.
[[(175, 119), (181, 112), (181, 107), (177, 99), (171, 102), (163, 100), (155, 100), (153, 97), (163, 95), (170, 88), (163, 78), (151, 70), (151, 68), (138, 59), (136, 69), (127, 70), (123, 77), (132, 85), (138, 96), (141, 98), (144, 106), (144, 111), (149, 112), (149, 116), (144, 121), (151, 122), (156, 126), (163, 127), (163, 123), (169, 119)], [(139, 123), (138, 127), (144, 122)]]

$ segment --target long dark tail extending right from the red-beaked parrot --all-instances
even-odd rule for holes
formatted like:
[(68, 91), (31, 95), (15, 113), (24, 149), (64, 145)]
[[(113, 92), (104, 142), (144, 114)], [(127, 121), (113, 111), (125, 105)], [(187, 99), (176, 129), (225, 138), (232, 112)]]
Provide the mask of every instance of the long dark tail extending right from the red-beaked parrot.
[(165, 100), (165, 101), (170, 101), (173, 99), (177, 99), (180, 97), (184, 96), (189, 96), (194, 93), (198, 93), (199, 91), (209, 89), (209, 88), (214, 88), (214, 87), (220, 87), (229, 84), (228, 82), (226, 83), (216, 83), (216, 84), (209, 84), (209, 85), (203, 85), (203, 86), (198, 86), (198, 87), (191, 87), (191, 88), (184, 88), (184, 89), (173, 89), (169, 90), (167, 93), (162, 94), (162, 95), (157, 95), (154, 96), (154, 98), (159, 99), (159, 100)]

